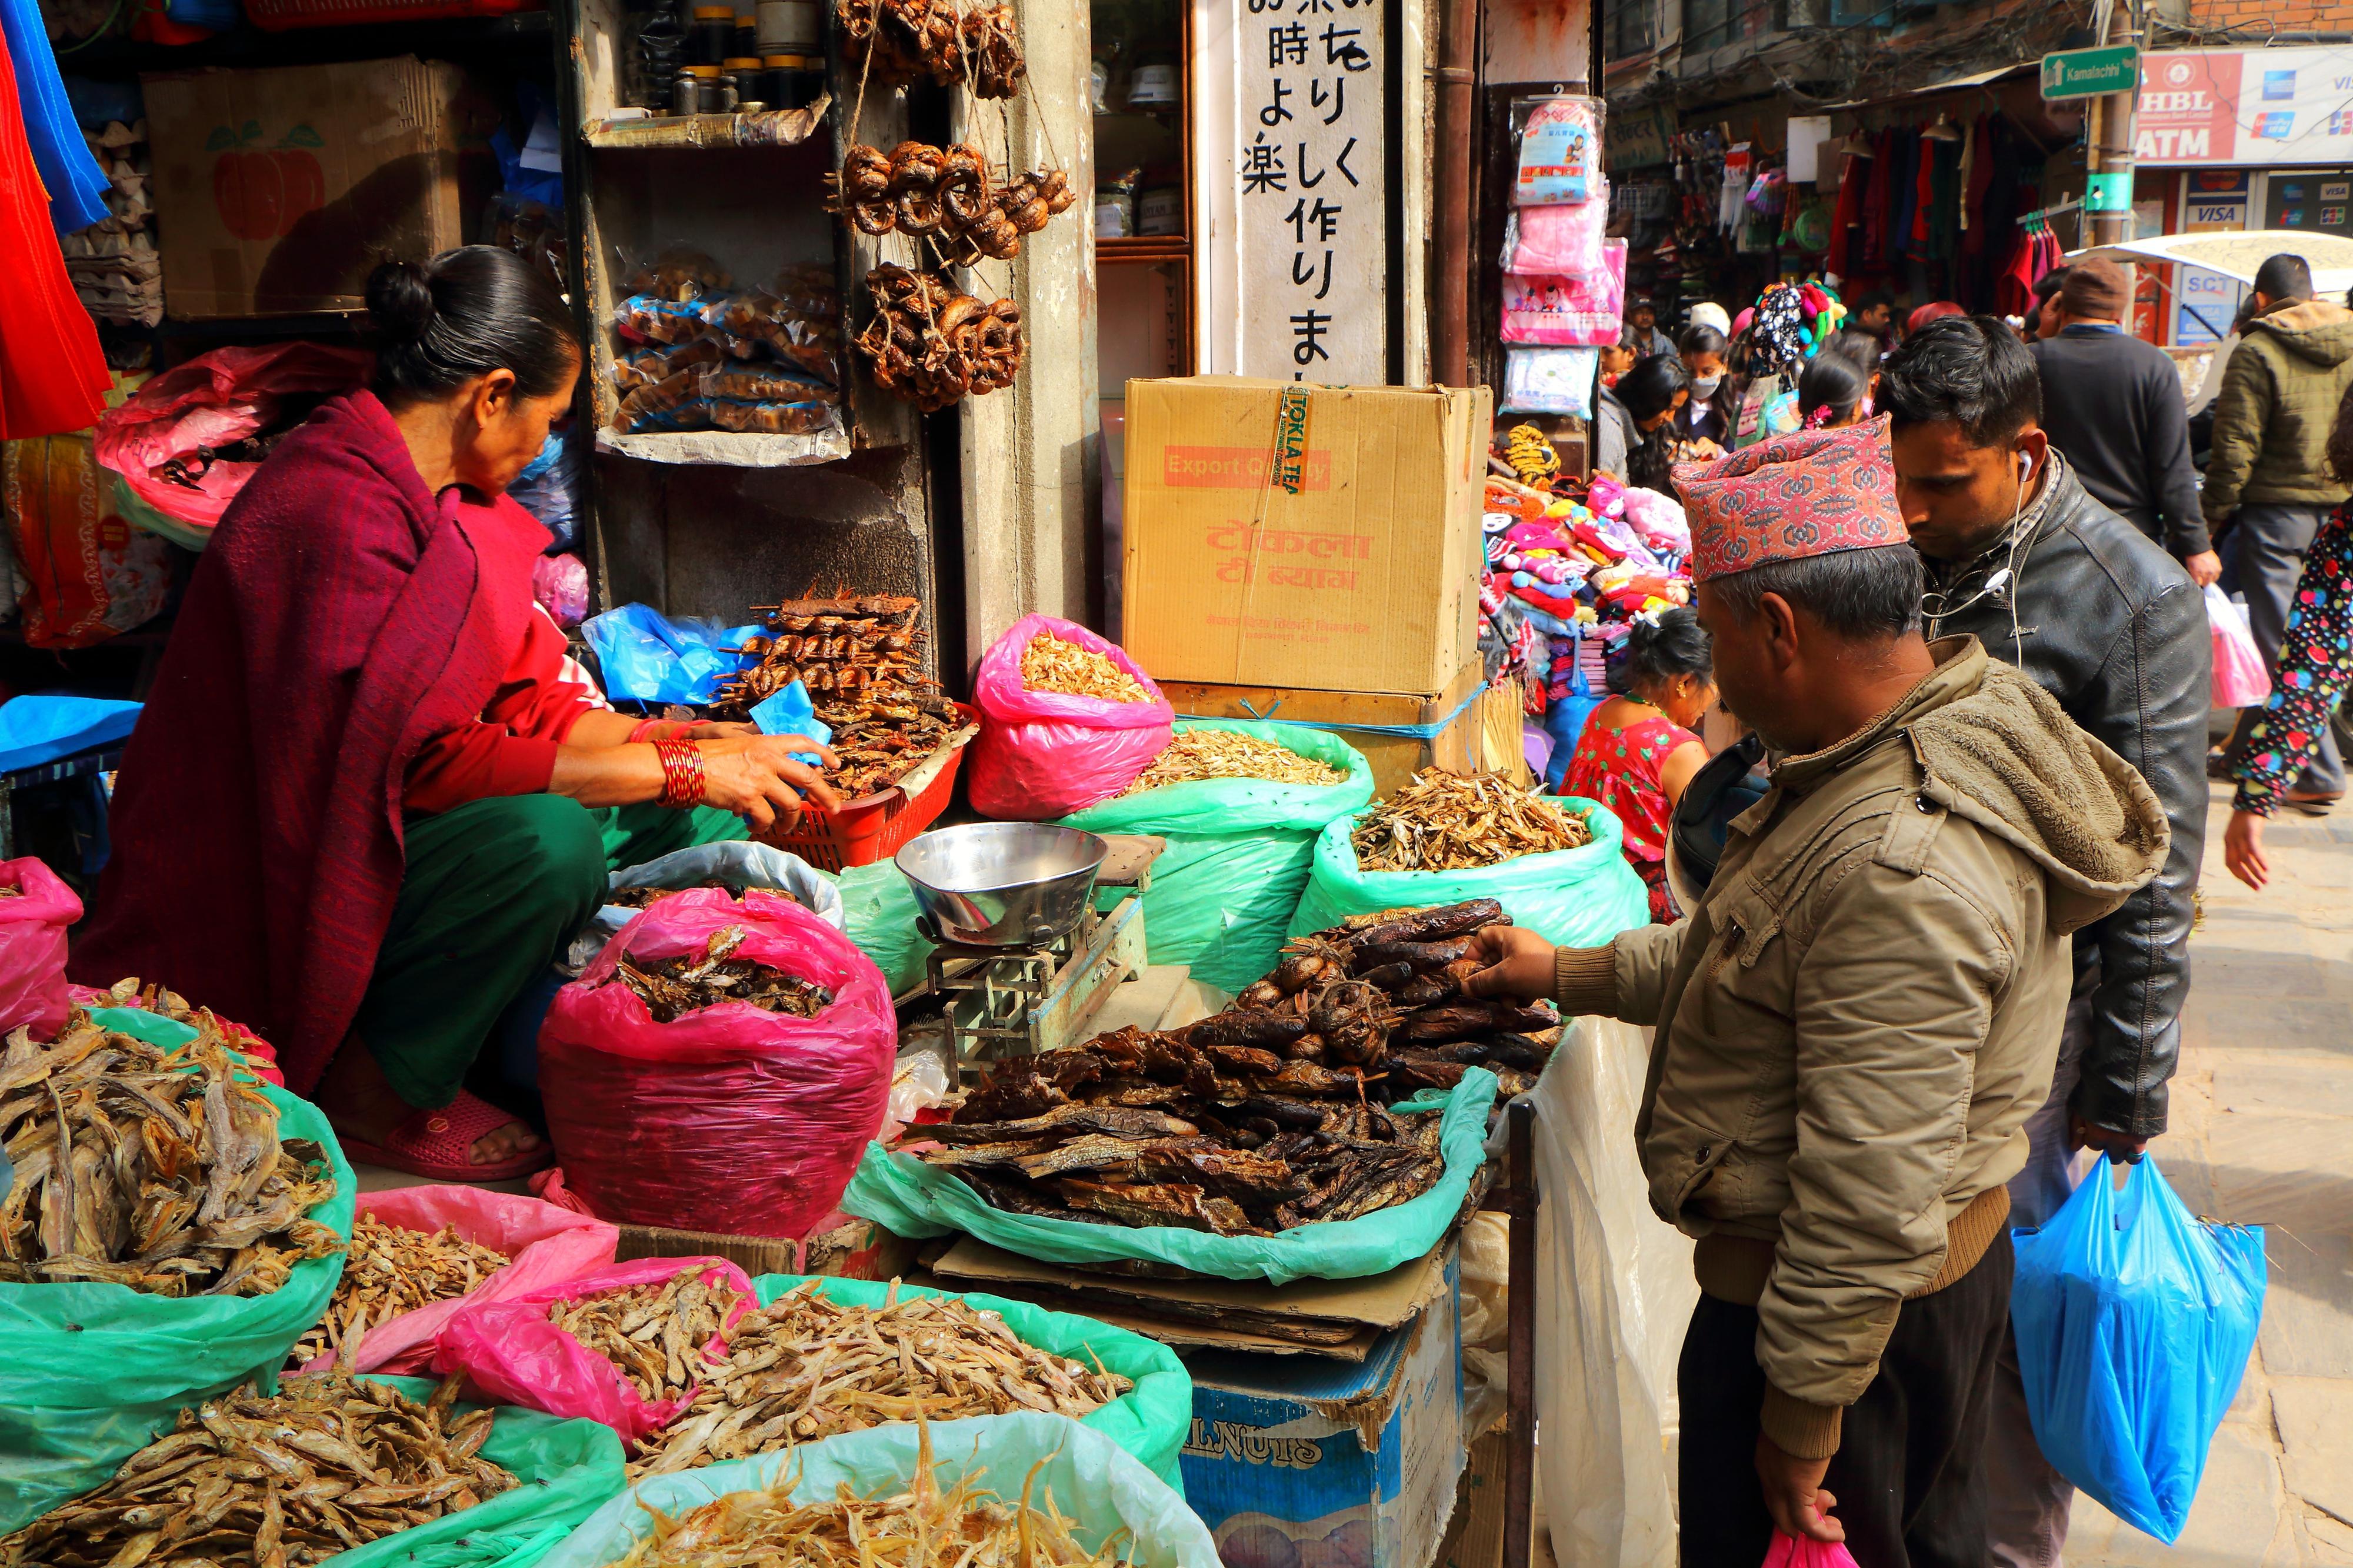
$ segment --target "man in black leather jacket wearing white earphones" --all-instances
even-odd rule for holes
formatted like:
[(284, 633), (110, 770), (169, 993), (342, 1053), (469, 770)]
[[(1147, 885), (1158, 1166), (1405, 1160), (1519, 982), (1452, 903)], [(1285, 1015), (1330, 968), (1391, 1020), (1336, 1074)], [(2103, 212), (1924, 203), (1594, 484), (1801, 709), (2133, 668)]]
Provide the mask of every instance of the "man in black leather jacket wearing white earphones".
[[(2012, 1224), (2066, 1201), (2075, 1149), (2139, 1158), (2165, 1130), (2207, 819), (2212, 640), (2188, 572), (2101, 506), (2040, 428), (2033, 356), (1991, 315), (1946, 318), (1880, 372), (1897, 499), (1927, 563), (1929, 636), (1974, 633), (2139, 768), (2172, 824), (2158, 878), (2075, 937), (2052, 1102), (2026, 1132)], [(2005, 1398), (2007, 1396), (2007, 1398)], [(2040, 1462), (2014, 1358), (1988, 1434), (1993, 1561), (2059, 1561), (2073, 1488)]]

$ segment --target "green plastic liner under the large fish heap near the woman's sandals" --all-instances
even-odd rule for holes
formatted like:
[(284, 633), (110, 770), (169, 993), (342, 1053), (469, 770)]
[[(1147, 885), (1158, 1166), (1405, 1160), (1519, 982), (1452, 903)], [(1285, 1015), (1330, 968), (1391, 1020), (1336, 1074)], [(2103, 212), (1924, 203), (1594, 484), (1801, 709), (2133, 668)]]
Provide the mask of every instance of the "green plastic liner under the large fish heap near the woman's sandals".
[[(165, 1019), (169, 1022), (169, 1019)], [(360, 1182), (325, 1114), (275, 1083), (278, 1137), (315, 1140), (334, 1196), (311, 1210), (351, 1241)], [(0, 1535), (115, 1474), (181, 1408), (259, 1377), (278, 1387), (294, 1342), (327, 1311), (344, 1255), (306, 1257), (271, 1295), (174, 1300), (129, 1285), (0, 1285)]]

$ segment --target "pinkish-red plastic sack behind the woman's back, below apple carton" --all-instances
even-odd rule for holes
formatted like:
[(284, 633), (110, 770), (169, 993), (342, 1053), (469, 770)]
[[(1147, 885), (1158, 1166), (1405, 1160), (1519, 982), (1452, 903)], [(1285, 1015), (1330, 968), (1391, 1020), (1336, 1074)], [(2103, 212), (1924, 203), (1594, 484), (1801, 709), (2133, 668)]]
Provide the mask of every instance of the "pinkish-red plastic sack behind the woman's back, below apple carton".
[[(266, 348), (214, 348), (174, 365), (99, 419), (96, 457), (141, 501), (209, 530), (245, 490), (259, 461), (200, 459), (198, 447), (226, 447), (280, 421), (285, 398), (341, 393), (367, 384), (376, 356), (362, 348), (287, 341)], [(193, 485), (162, 478), (181, 459)]]

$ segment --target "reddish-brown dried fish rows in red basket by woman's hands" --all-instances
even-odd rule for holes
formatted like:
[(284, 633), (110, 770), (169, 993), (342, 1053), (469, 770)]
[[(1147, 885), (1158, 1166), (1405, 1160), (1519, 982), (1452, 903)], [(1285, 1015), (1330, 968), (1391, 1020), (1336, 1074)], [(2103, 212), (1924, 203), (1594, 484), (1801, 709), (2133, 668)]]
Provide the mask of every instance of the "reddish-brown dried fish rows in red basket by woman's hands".
[(769, 636), (736, 652), (758, 659), (720, 687), (713, 713), (744, 718), (800, 680), (816, 718), (833, 727), (838, 768), (826, 782), (845, 800), (896, 784), (965, 727), (965, 716), (922, 673), (918, 600), (868, 593), (760, 605)]

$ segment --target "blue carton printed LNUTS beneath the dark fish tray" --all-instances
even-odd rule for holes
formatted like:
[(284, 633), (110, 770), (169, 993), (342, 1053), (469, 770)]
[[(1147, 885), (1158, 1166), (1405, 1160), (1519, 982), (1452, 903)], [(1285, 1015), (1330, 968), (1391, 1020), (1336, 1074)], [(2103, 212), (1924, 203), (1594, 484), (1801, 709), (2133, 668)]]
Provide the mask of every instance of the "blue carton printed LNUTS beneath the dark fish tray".
[(1461, 1255), (1365, 1361), (1202, 1351), (1186, 1502), (1226, 1568), (1428, 1568), (1464, 1469)]

